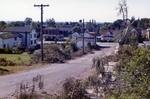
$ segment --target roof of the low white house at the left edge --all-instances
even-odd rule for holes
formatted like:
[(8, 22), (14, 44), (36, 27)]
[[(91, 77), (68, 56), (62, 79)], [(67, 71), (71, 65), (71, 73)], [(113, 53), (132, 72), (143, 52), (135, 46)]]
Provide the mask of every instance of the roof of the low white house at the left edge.
[(9, 39), (9, 38), (15, 38), (15, 37), (22, 37), (22, 35), (18, 33), (10, 33), (10, 32), (5, 32), (5, 33), (0, 34), (0, 38), (2, 39)]

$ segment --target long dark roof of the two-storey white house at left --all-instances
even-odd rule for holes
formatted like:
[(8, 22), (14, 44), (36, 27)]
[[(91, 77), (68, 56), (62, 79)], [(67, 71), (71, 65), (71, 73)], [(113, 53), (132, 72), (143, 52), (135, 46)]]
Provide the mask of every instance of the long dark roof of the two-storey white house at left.
[(32, 31), (31, 26), (16, 26), (16, 27), (7, 27), (2, 32), (15, 32), (15, 33), (30, 33)]

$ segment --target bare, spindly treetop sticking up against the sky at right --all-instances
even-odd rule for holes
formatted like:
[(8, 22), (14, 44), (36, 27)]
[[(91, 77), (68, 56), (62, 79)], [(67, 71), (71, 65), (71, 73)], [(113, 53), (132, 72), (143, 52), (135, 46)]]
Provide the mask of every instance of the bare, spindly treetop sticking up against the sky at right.
[(122, 14), (123, 21), (126, 22), (128, 19), (128, 6), (127, 6), (127, 0), (120, 0), (118, 4), (118, 15)]

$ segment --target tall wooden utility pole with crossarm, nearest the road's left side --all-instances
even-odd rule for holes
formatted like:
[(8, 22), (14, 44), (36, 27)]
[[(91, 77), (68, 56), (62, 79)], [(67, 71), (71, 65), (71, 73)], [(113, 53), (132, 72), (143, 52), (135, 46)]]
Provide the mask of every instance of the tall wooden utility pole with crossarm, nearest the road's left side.
[(41, 39), (41, 60), (44, 61), (44, 52), (43, 52), (43, 7), (49, 7), (49, 5), (34, 5), (34, 7), (41, 8), (41, 29), (40, 29), (40, 39)]

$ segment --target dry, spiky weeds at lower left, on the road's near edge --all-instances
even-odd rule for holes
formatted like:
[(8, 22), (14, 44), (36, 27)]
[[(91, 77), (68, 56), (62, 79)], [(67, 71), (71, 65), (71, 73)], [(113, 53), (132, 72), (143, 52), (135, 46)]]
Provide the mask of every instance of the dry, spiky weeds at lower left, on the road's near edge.
[(43, 99), (43, 96), (37, 91), (43, 89), (44, 82), (41, 75), (33, 77), (32, 83), (21, 83), (16, 90), (16, 99)]

